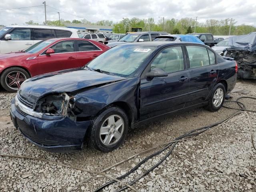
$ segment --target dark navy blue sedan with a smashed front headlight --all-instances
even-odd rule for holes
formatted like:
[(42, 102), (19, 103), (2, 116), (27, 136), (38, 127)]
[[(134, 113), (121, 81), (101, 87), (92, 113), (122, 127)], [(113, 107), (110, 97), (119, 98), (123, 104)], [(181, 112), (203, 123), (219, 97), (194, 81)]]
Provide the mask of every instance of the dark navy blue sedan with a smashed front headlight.
[(45, 150), (109, 152), (129, 128), (163, 114), (221, 108), (236, 84), (236, 62), (188, 42), (116, 46), (86, 67), (30, 78), (11, 104), (15, 127)]

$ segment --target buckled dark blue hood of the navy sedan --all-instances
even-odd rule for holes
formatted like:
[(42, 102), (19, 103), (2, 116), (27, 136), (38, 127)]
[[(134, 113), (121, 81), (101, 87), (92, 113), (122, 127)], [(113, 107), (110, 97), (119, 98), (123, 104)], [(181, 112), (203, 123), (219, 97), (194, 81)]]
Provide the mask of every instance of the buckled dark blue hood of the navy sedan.
[(37, 102), (39, 98), (51, 92), (73, 92), (124, 79), (126, 78), (77, 68), (30, 78), (22, 83), (18, 92), (31, 102)]

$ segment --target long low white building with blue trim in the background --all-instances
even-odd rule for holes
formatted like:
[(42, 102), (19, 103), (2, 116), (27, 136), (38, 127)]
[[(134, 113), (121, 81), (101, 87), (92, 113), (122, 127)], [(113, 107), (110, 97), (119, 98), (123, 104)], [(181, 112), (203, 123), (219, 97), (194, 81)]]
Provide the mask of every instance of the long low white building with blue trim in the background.
[(102, 25), (86, 25), (83, 23), (64, 23), (64, 25), (68, 28), (74, 28), (78, 30), (78, 33), (113, 33), (112, 26), (102, 26)]

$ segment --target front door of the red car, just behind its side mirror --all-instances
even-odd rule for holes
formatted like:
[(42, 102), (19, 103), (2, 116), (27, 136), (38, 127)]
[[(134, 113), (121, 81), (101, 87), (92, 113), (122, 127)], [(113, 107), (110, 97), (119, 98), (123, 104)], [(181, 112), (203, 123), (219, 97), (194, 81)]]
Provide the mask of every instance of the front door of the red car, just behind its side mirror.
[(40, 74), (77, 67), (74, 40), (64, 40), (50, 48), (54, 54), (46, 55), (44, 51), (38, 56)]

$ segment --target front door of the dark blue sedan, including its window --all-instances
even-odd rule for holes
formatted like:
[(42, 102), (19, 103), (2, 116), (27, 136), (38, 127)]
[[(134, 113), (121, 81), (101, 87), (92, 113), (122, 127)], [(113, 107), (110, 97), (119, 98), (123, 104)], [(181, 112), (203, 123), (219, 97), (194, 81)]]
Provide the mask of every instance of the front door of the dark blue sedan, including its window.
[[(184, 108), (189, 90), (189, 72), (184, 65), (181, 46), (161, 50), (148, 71), (161, 68), (167, 77), (143, 77), (140, 81), (140, 117), (152, 118)], [(147, 70), (146, 70), (147, 72)]]

